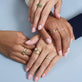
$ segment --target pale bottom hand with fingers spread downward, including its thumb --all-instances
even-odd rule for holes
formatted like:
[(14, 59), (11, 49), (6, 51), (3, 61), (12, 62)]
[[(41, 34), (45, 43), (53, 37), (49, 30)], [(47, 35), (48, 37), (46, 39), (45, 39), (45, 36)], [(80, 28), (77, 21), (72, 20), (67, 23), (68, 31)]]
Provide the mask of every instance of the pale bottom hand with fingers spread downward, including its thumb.
[(39, 41), (35, 48), (37, 50), (33, 51), (32, 56), (26, 66), (26, 72), (29, 71), (28, 79), (32, 79), (33, 75), (40, 67), (35, 75), (35, 81), (38, 81), (41, 76), (44, 76), (45, 74), (47, 75), (54, 64), (62, 57), (57, 55), (53, 43), (46, 44), (42, 38), (39, 40), (39, 37), (39, 35), (36, 35), (30, 41), (28, 41), (28, 43), (26, 43), (28, 45), (32, 45)]

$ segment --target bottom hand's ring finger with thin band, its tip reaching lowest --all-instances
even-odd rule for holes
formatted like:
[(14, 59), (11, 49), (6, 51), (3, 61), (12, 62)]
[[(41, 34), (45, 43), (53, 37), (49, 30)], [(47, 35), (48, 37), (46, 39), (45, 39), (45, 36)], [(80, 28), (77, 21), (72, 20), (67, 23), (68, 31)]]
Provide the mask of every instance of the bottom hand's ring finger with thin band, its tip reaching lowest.
[(36, 76), (34, 78), (34, 81), (38, 81), (39, 78), (41, 77), (41, 75), (43, 74), (44, 70), (47, 68), (47, 66), (49, 65), (50, 61), (55, 57), (56, 53), (50, 53), (45, 60), (43, 61), (43, 63), (41, 64), (38, 72), (36, 73)]

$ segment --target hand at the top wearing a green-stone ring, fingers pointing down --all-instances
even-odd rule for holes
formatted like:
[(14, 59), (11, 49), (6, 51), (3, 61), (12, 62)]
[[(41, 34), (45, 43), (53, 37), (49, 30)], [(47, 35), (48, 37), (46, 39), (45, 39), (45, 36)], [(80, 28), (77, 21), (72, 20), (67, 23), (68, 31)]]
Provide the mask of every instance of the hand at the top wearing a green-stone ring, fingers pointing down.
[(55, 6), (55, 16), (60, 18), (62, 0), (30, 0), (29, 21), (32, 24), (32, 32), (41, 30), (52, 8)]

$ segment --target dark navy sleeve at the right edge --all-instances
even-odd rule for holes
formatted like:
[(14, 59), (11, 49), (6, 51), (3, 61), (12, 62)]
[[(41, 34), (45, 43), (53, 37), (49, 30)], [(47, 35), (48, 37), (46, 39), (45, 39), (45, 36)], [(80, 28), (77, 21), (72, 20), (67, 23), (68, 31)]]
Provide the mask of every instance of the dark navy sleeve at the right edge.
[(82, 13), (68, 21), (72, 27), (75, 39), (82, 36)]

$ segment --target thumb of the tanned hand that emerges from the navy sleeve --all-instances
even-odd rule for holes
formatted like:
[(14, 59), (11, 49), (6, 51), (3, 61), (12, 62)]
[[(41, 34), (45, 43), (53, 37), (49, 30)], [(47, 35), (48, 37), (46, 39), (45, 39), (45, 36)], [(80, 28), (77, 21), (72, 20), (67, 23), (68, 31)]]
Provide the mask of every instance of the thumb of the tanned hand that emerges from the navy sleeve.
[(47, 31), (44, 28), (40, 30), (39, 33), (42, 36), (42, 38), (45, 40), (46, 43), (48, 44), (52, 43), (52, 39), (50, 35), (47, 33)]

